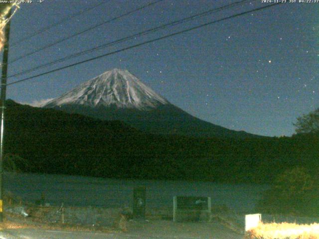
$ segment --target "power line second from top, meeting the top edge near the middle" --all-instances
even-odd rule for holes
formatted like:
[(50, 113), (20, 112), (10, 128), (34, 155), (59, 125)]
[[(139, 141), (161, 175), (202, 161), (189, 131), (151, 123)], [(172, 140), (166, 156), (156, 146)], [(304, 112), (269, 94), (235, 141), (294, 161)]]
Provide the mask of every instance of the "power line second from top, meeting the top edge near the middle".
[(104, 25), (104, 24), (109, 23), (109, 22), (111, 22), (111, 21), (117, 20), (117, 19), (119, 19), (119, 18), (121, 18), (121, 17), (127, 16), (127, 15), (129, 15), (129, 14), (131, 14), (131, 13), (133, 13), (133, 12), (142, 10), (143, 8), (146, 8), (146, 7), (148, 7), (148, 6), (154, 5), (154, 4), (156, 4), (156, 3), (160, 2), (160, 1), (163, 1), (163, 0), (157, 0), (157, 1), (154, 1), (154, 2), (151, 2), (151, 3), (148, 3), (148, 4), (146, 4), (146, 5), (143, 5), (143, 6), (139, 7), (139, 8), (136, 8), (136, 9), (134, 9), (134, 10), (132, 10), (132, 11), (128, 11), (128, 12), (122, 14), (122, 15), (113, 17), (113, 18), (110, 19), (110, 20), (107, 20), (107, 21), (104, 21), (104, 22), (102, 22), (102, 23), (96, 24), (96, 25), (94, 25), (94, 26), (92, 26), (92, 27), (89, 27), (89, 28), (87, 28), (87, 29), (85, 29), (85, 30), (83, 30), (83, 31), (80, 31), (80, 32), (78, 32), (78, 33), (75, 33), (75, 34), (72, 34), (72, 35), (67, 36), (67, 37), (65, 37), (65, 38), (62, 38), (62, 39), (57, 40), (57, 41), (55, 41), (55, 42), (53, 42), (53, 43), (50, 43), (50, 44), (48, 44), (48, 45), (42, 46), (42, 47), (40, 47), (40, 48), (37, 48), (36, 50), (34, 50), (34, 51), (32, 51), (32, 52), (26, 53), (26, 54), (24, 54), (24, 55), (22, 55), (22, 56), (19, 56), (19, 57), (15, 58), (15, 59), (9, 61), (9, 63), (16, 62), (16, 61), (18, 61), (18, 60), (20, 60), (20, 59), (22, 59), (22, 58), (24, 58), (24, 57), (33, 55), (33, 54), (36, 53), (36, 52), (42, 51), (42, 50), (44, 50), (44, 49), (46, 49), (46, 48), (49, 48), (49, 47), (54, 46), (54, 45), (56, 45), (56, 44), (58, 44), (58, 43), (61, 43), (61, 42), (66, 41), (66, 40), (68, 40), (68, 39), (71, 39), (72, 37), (75, 37), (75, 36), (78, 36), (78, 35), (80, 35), (80, 34), (83, 34), (83, 33), (87, 32), (87, 31), (90, 31), (90, 30), (92, 30), (92, 29), (94, 29), (94, 28), (97, 28), (97, 27), (99, 27), (99, 26), (101, 26), (101, 25)]

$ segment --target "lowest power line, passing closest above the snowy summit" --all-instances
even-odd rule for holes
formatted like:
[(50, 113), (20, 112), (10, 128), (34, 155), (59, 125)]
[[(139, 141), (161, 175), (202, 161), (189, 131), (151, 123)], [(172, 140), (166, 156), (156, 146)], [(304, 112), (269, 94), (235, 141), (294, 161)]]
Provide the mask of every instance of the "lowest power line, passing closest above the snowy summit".
[(158, 38), (155, 38), (155, 39), (152, 39), (152, 40), (148, 40), (148, 41), (136, 44), (136, 45), (125, 47), (125, 48), (122, 48), (120, 50), (116, 50), (116, 51), (109, 52), (109, 53), (106, 53), (106, 54), (103, 54), (103, 55), (100, 55), (100, 56), (97, 56), (97, 57), (93, 57), (93, 58), (90, 58), (90, 59), (87, 59), (87, 60), (84, 60), (84, 61), (80, 61), (80, 62), (73, 63), (73, 64), (70, 64), (70, 65), (67, 65), (67, 66), (56, 68), (56, 69), (51, 70), (51, 71), (47, 71), (47, 72), (44, 72), (44, 73), (41, 73), (41, 74), (38, 74), (38, 75), (35, 75), (35, 76), (27, 77), (27, 78), (24, 78), (24, 79), (21, 79), (21, 80), (18, 80), (18, 81), (14, 81), (14, 82), (8, 83), (8, 84), (6, 84), (6, 86), (17, 84), (17, 83), (20, 83), (20, 82), (23, 82), (23, 81), (27, 81), (27, 80), (30, 80), (30, 79), (33, 79), (33, 78), (36, 78), (36, 77), (39, 77), (39, 76), (44, 76), (44, 75), (50, 74), (52, 72), (56, 72), (56, 71), (60, 71), (60, 70), (66, 69), (66, 68), (70, 68), (72, 66), (76, 66), (76, 65), (79, 65), (79, 64), (82, 64), (82, 63), (85, 63), (85, 62), (93, 61), (93, 60), (96, 60), (96, 59), (99, 59), (99, 58), (102, 58), (102, 57), (105, 57), (105, 56), (113, 55), (113, 54), (116, 54), (116, 53), (119, 53), (119, 52), (122, 52), (122, 51), (126, 51), (126, 50), (129, 50), (129, 49), (135, 48), (135, 47), (139, 47), (139, 46), (142, 46), (142, 45), (145, 45), (145, 44), (148, 44), (148, 43), (159, 41), (159, 40), (162, 40), (162, 39), (165, 39), (165, 38), (168, 38), (168, 37), (171, 37), (171, 36), (175, 36), (175, 35), (178, 35), (178, 34), (181, 34), (181, 33), (185, 33), (185, 32), (191, 31), (191, 30), (195, 30), (195, 29), (198, 29), (198, 28), (201, 28), (201, 27), (204, 27), (204, 26), (208, 26), (208, 25), (220, 22), (220, 21), (224, 21), (224, 20), (231, 19), (231, 18), (234, 18), (234, 17), (237, 17), (237, 16), (241, 16), (241, 15), (245, 15), (245, 14), (248, 14), (248, 13), (251, 13), (251, 12), (255, 12), (255, 11), (259, 11), (259, 10), (265, 9), (265, 8), (269, 8), (269, 7), (278, 5), (278, 4), (281, 4), (281, 2), (273, 3), (273, 4), (270, 4), (270, 5), (266, 5), (266, 6), (258, 7), (258, 8), (252, 9), (252, 10), (248, 10), (248, 11), (244, 11), (244, 12), (241, 12), (241, 13), (237, 13), (237, 14), (234, 14), (234, 15), (231, 15), (231, 16), (227, 16), (227, 17), (218, 19), (218, 20), (214, 20), (214, 21), (210, 21), (210, 22), (198, 25), (198, 26), (194, 26), (194, 27), (182, 30), (182, 31), (171, 33), (171, 34), (168, 34), (168, 35), (165, 35), (165, 36), (162, 36), (162, 37), (158, 37)]

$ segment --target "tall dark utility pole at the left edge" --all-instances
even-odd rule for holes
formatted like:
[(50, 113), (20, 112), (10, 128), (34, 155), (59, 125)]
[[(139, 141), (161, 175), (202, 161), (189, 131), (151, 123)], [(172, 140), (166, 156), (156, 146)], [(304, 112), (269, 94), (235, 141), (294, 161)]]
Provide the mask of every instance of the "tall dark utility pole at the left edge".
[[(11, 9), (6, 15), (6, 19), (10, 19)], [(4, 109), (6, 94), (6, 78), (8, 69), (8, 53), (9, 53), (9, 34), (10, 21), (4, 26), (4, 46), (2, 57), (2, 76), (1, 76), (1, 92), (0, 92), (0, 109), (1, 109), (1, 132), (0, 132), (0, 222), (3, 222), (3, 132), (4, 132)]]

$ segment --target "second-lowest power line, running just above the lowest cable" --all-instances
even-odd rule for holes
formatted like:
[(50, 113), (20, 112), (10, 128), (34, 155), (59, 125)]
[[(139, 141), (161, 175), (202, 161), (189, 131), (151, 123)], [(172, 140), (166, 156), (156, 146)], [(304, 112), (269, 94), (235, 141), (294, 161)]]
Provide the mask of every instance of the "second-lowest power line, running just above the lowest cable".
[(51, 61), (49, 63), (45, 63), (45, 64), (30, 68), (30, 69), (15, 73), (13, 75), (8, 76), (8, 78), (14, 77), (14, 76), (24, 75), (26, 73), (33, 72), (35, 70), (41, 69), (41, 68), (46, 67), (46, 66), (51, 66), (51, 65), (54, 65), (56, 63), (60, 63), (60, 62), (63, 62), (63, 61), (66, 61), (66, 60), (69, 60), (69, 59), (72, 59), (72, 58), (75, 58), (75, 57), (78, 57), (78, 56), (93, 52), (93, 51), (96, 51), (96, 50), (100, 50), (100, 49), (105, 48), (105, 47), (113, 46), (113, 45), (118, 44), (118, 43), (122, 43), (122, 42), (125, 42), (125, 41), (128, 41), (128, 40), (131, 40), (131, 39), (135, 39), (136, 37), (156, 32), (156, 31), (164, 29), (164, 28), (166, 28), (168, 26), (174, 26), (174, 25), (177, 25), (177, 24), (181, 24), (181, 23), (185, 23), (187, 21), (191, 21), (191, 20), (197, 19), (199, 17), (207, 16), (207, 15), (213, 13), (213, 12), (221, 11), (221, 10), (224, 10), (224, 9), (227, 9), (227, 8), (230, 8), (230, 7), (234, 7), (234, 6), (238, 5), (238, 4), (246, 3), (248, 1), (251, 2), (251, 1), (256, 1), (256, 0), (241, 0), (241, 1), (233, 2), (231, 4), (223, 5), (221, 7), (212, 8), (212, 9), (209, 9), (207, 11), (191, 15), (189, 17), (185, 17), (185, 18), (182, 18), (182, 19), (179, 19), (179, 20), (175, 20), (175, 21), (166, 23), (166, 24), (162, 24), (160, 26), (157, 26), (157, 27), (154, 27), (154, 28), (151, 28), (151, 29), (148, 29), (148, 30), (136, 33), (136, 34), (133, 34), (133, 35), (130, 35), (130, 36), (127, 36), (127, 37), (124, 37), (124, 38), (121, 38), (121, 39), (118, 39), (118, 40), (115, 40), (115, 41), (111, 41), (111, 42), (108, 42), (106, 44), (102, 44), (102, 45), (99, 45), (97, 47), (93, 47), (93, 48), (90, 48), (90, 49), (87, 49), (87, 50), (84, 50), (84, 51), (80, 51), (80, 52), (77, 52), (75, 54), (72, 54), (72, 55), (69, 55), (69, 56), (65, 56), (65, 57), (62, 57), (60, 59)]

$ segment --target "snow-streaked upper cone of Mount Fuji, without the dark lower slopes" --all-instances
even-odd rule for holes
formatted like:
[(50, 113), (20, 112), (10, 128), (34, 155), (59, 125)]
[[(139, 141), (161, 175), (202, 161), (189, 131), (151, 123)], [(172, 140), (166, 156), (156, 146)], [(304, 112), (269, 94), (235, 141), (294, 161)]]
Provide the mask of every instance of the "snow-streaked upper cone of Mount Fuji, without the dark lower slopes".
[(43, 107), (83, 105), (148, 110), (169, 104), (127, 70), (113, 69), (53, 99)]

